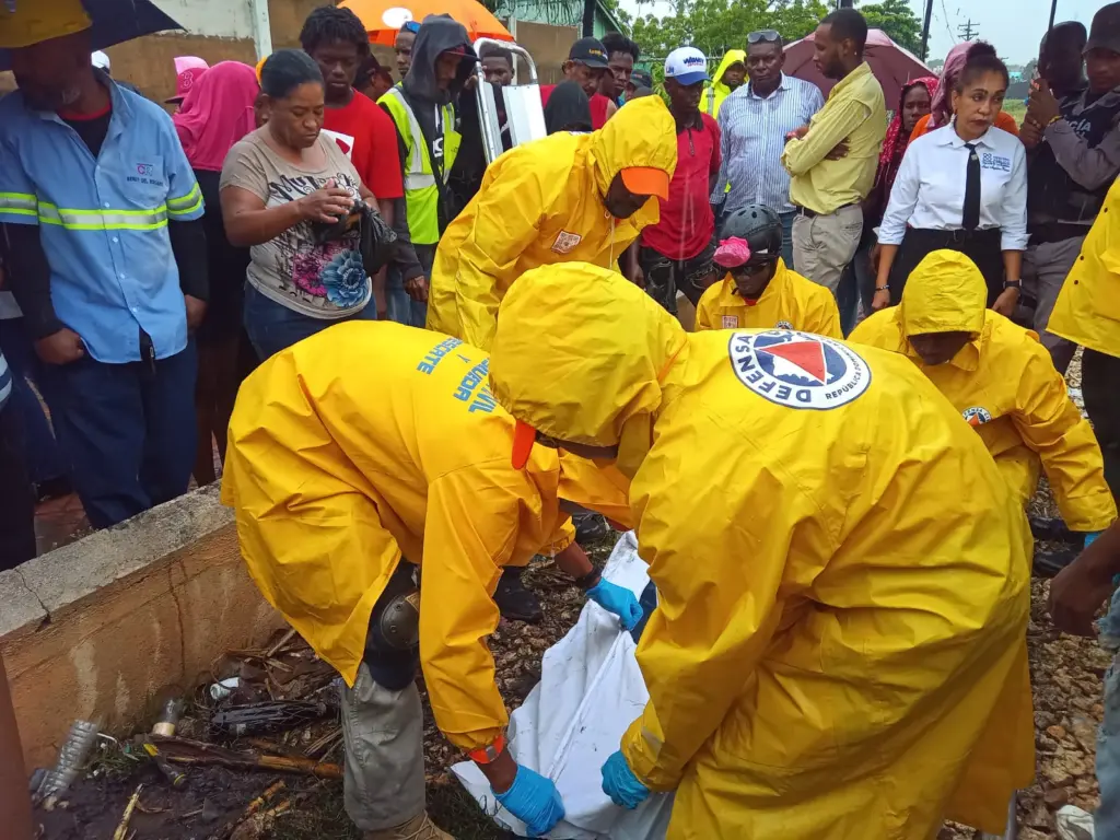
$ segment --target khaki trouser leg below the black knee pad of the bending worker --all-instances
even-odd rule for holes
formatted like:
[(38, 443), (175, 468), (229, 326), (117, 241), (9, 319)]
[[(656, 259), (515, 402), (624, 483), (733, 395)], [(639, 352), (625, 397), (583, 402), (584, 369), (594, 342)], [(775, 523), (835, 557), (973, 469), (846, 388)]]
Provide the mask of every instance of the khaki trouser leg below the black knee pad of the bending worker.
[(401, 825), (424, 810), (423, 711), (410, 682), (391, 691), (363, 662), (342, 692), (346, 813), (362, 831)]

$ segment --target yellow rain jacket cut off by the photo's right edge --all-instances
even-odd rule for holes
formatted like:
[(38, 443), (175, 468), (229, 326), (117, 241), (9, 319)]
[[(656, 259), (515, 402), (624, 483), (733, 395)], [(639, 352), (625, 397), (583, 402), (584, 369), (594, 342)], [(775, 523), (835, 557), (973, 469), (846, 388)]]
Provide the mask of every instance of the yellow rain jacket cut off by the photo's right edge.
[(1120, 179), (1081, 246), (1046, 328), (1109, 356), (1120, 356)]

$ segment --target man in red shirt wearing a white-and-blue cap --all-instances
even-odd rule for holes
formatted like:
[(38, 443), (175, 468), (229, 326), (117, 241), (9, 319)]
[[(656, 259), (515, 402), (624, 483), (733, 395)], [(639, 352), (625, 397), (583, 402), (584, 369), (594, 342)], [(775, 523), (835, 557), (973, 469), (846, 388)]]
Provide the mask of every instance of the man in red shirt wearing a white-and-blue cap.
[(661, 221), (642, 232), (638, 265), (650, 297), (673, 315), (678, 291), (696, 306), (717, 276), (709, 196), (719, 175), (719, 125), (700, 112), (707, 81), (707, 59), (699, 49), (681, 47), (669, 54), (665, 93), (676, 120), (676, 171), (669, 200), (661, 203)]

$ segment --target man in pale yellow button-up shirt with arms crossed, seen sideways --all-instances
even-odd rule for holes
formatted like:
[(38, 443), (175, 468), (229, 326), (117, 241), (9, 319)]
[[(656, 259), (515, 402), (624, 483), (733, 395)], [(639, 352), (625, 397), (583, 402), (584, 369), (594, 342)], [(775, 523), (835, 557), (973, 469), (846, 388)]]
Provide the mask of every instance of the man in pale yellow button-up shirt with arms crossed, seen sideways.
[(813, 62), (838, 80), (824, 108), (791, 133), (782, 162), (792, 176), (793, 262), (837, 293), (840, 276), (859, 248), (862, 202), (875, 183), (887, 109), (883, 87), (864, 60), (867, 21), (855, 9), (828, 15), (813, 35)]

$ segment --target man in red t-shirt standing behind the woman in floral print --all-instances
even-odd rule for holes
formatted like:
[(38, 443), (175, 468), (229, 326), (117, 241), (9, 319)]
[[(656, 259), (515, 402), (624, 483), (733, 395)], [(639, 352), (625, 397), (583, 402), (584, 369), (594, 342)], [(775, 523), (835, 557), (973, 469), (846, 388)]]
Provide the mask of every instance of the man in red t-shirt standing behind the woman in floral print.
[[(401, 240), (393, 265), (402, 280), (422, 276), (404, 215), (404, 174), (396, 127), (377, 103), (354, 90), (358, 69), (370, 56), (365, 27), (349, 9), (324, 6), (307, 16), (299, 40), (323, 72), (324, 133), (333, 137), (354, 164), (362, 183), (377, 198), (377, 211)], [(377, 301), (384, 301), (385, 270), (373, 281), (375, 292), (380, 292)], [(377, 317), (386, 315), (379, 306)]]

